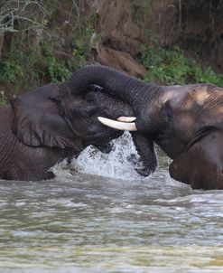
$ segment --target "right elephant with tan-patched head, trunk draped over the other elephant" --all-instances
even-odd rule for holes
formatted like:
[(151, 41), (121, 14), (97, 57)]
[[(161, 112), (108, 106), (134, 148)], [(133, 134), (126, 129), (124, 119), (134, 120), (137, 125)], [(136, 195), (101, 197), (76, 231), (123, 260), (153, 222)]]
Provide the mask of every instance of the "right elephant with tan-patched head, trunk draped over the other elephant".
[[(82, 74), (87, 81), (79, 82)], [(72, 80), (79, 82), (76, 89)], [(174, 179), (193, 189), (223, 189), (223, 89), (210, 84), (157, 86), (104, 66), (79, 70), (68, 85), (76, 92), (88, 82), (133, 108), (138, 131), (132, 136), (144, 163), (141, 174), (156, 168), (156, 143), (172, 158)]]

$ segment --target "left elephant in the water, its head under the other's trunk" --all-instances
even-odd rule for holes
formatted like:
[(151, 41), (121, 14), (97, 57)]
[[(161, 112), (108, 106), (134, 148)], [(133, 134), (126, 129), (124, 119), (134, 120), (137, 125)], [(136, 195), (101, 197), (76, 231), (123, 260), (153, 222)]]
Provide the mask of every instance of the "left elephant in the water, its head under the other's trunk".
[(131, 108), (102, 94), (97, 85), (79, 89), (82, 81), (91, 82), (77, 71), (67, 82), (34, 89), (0, 107), (1, 178), (49, 179), (51, 166), (88, 145), (109, 152), (109, 141), (122, 132), (104, 127), (97, 117), (113, 118), (114, 111), (116, 118), (131, 115)]

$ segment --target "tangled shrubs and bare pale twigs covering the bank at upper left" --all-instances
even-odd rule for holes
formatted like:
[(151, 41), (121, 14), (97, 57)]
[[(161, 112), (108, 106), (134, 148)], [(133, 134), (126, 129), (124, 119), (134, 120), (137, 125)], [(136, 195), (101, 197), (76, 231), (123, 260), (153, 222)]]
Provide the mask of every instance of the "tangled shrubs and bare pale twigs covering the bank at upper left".
[[(46, 82), (67, 80), (71, 71), (88, 63), (90, 45), (100, 39), (94, 29), (98, 14), (88, 5), (82, 0), (1, 2), (0, 85), (13, 87), (10, 98)], [(3, 91), (0, 103), (8, 96)]]

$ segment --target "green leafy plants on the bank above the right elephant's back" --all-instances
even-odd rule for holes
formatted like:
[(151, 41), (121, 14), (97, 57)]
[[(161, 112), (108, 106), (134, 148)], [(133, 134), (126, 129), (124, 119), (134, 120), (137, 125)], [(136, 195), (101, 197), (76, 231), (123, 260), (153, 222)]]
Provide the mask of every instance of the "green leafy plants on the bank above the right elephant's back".
[(144, 45), (140, 61), (147, 70), (144, 80), (166, 84), (209, 82), (223, 87), (223, 75), (216, 74), (211, 67), (202, 69), (200, 63), (185, 56), (180, 48), (165, 50), (162, 47)]

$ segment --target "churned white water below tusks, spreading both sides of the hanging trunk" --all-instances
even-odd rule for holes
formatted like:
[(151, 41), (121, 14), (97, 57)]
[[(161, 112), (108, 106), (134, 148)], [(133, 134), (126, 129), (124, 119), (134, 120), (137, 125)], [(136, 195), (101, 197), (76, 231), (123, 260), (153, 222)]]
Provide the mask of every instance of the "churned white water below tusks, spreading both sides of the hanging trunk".
[[(159, 156), (160, 167), (152, 175), (143, 177), (135, 171), (135, 168), (143, 167), (138, 163), (134, 165), (128, 161), (130, 155), (135, 155), (135, 161), (139, 160), (139, 155), (135, 149), (132, 136), (125, 132), (123, 136), (112, 141), (113, 149), (109, 154), (101, 153), (96, 147), (88, 146), (78, 158), (74, 158), (70, 165), (66, 160), (52, 168), (52, 172), (57, 177), (67, 180), (72, 179), (75, 174), (92, 174), (107, 178), (121, 179), (125, 181), (145, 181), (150, 185), (173, 185), (182, 186), (170, 177), (168, 172), (168, 157)], [(183, 184), (184, 185), (184, 184)]]

